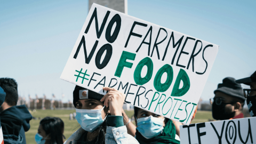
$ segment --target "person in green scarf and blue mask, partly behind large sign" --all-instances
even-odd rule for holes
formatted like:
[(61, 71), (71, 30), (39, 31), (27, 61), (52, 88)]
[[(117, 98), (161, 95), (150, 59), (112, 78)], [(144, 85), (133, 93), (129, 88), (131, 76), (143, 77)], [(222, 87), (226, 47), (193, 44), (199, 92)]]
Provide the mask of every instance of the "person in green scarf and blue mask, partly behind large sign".
[(137, 126), (135, 138), (139, 143), (180, 143), (171, 119), (137, 107), (134, 107), (134, 117)]

